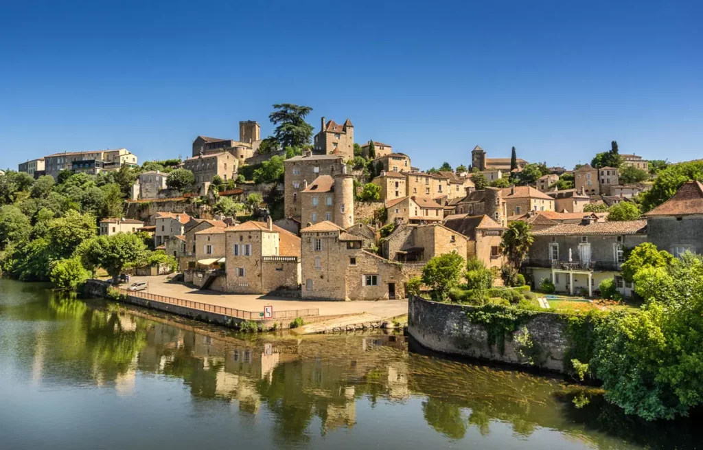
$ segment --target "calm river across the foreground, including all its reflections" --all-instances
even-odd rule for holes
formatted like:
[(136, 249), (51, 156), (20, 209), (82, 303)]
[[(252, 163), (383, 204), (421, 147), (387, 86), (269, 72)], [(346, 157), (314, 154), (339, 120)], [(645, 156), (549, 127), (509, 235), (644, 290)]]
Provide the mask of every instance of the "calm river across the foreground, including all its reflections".
[[(673, 449), (560, 378), (401, 334), (242, 335), (0, 280), (1, 449)], [(576, 402), (586, 406), (576, 408)]]

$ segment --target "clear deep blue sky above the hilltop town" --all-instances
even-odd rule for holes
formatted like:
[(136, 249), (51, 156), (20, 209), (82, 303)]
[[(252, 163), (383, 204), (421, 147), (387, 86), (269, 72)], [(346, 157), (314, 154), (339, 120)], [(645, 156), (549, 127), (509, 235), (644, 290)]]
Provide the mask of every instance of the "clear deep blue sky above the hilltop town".
[(0, 167), (271, 134), (273, 103), (427, 169), (510, 147), (703, 158), (702, 1), (1, 1)]

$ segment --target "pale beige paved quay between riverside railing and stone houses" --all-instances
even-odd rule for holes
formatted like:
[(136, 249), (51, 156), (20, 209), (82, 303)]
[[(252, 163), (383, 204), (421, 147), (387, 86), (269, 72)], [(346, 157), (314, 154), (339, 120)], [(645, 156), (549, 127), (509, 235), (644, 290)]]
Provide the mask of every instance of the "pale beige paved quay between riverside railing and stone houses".
[[(183, 283), (169, 282), (166, 276), (133, 276), (129, 284), (148, 281), (149, 293), (167, 297), (216, 304), (221, 307), (243, 309), (244, 311), (264, 311), (264, 306), (273, 306), (274, 311), (287, 309), (318, 308), (321, 316), (335, 314), (368, 313), (380, 319), (408, 314), (408, 300), (380, 300), (378, 302), (319, 302), (312, 300), (292, 300), (282, 297), (269, 297), (254, 294), (222, 294), (214, 290), (198, 290)], [(129, 284), (120, 287), (127, 288)], [(146, 291), (145, 291), (146, 292)]]

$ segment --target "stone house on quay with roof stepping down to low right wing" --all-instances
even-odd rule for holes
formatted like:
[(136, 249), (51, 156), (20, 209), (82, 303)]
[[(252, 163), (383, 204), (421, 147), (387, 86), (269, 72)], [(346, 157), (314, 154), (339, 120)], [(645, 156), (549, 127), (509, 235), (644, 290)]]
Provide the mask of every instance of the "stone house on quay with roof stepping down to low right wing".
[(328, 221), (308, 226), (300, 234), (303, 299), (405, 297), (402, 264), (363, 250), (358, 236)]

